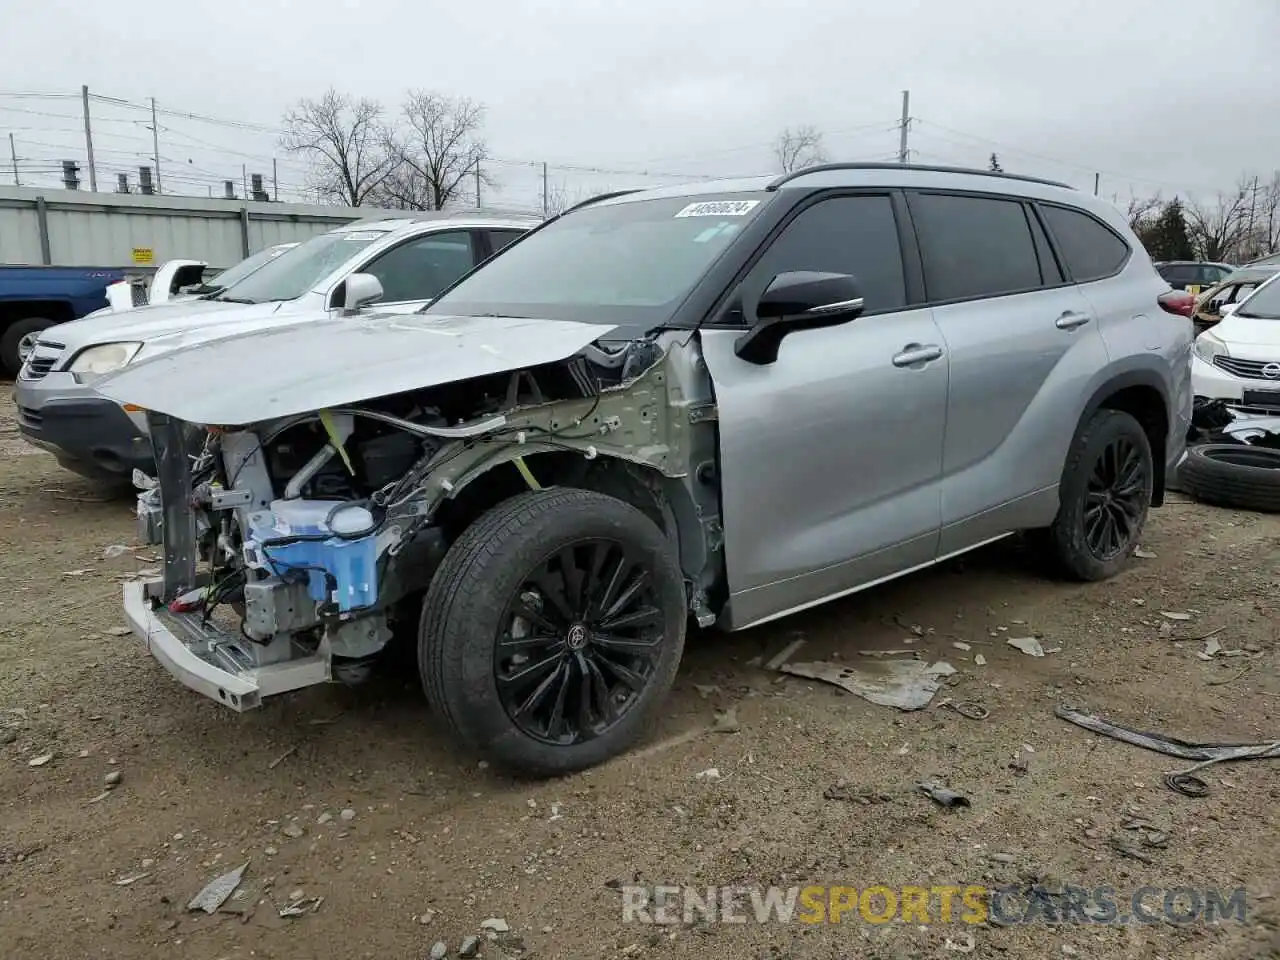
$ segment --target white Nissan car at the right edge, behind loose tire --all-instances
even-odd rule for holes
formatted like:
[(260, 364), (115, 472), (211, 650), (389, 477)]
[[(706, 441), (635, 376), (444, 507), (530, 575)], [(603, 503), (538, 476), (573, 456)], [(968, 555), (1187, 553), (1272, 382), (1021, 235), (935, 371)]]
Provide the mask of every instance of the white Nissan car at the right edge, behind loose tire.
[(1196, 338), (1192, 389), (1256, 413), (1280, 413), (1280, 274), (1222, 307)]

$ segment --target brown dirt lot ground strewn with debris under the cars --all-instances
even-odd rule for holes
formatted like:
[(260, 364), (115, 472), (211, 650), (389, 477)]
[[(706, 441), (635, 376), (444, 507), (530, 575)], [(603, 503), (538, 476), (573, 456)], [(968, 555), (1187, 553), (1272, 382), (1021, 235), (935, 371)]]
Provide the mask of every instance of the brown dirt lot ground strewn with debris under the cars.
[[(695, 635), (669, 712), (640, 749), (581, 776), (521, 783), (452, 749), (408, 673), (244, 716), (172, 681), (114, 632), (120, 579), (148, 566), (146, 550), (104, 559), (108, 545), (132, 543), (131, 504), (97, 500), (24, 448), (12, 412), (5, 401), (5, 956), (383, 960), (425, 957), (439, 940), (453, 956), (489, 918), (511, 928), (484, 943), (489, 957), (518, 956), (521, 945), (538, 957), (1280, 955), (1268, 954), (1280, 951), (1270, 897), (1280, 895), (1280, 764), (1211, 768), (1210, 795), (1188, 799), (1162, 782), (1185, 762), (1053, 716), (1068, 701), (1193, 740), (1280, 736), (1280, 517), (1179, 500), (1153, 516), (1146, 548), (1156, 556), (1112, 582), (1042, 580), (1006, 543), (756, 631)], [(1217, 627), (1222, 649), (1243, 655), (1203, 660), (1203, 644), (1176, 643)], [(1052, 652), (1032, 658), (1005, 643), (1029, 634)], [(749, 666), (796, 637), (806, 640), (799, 659), (859, 667), (874, 663), (860, 652), (911, 637), (957, 673), (933, 707), (900, 713)], [(963, 717), (945, 698), (978, 701), (989, 717)], [(712, 730), (727, 708), (739, 730)], [(718, 780), (698, 777), (712, 767)], [(122, 780), (106, 792), (110, 772)], [(972, 806), (940, 809), (914, 790), (925, 777)], [(824, 799), (840, 781), (867, 801)], [(1167, 842), (1144, 845), (1149, 832), (1124, 828), (1133, 817)], [(209, 879), (246, 860), (247, 893), (228, 902), (239, 913), (187, 913)], [(637, 879), (1037, 881), (1121, 896), (1143, 884), (1243, 884), (1249, 923), (872, 924), (855, 910), (838, 925), (658, 928), (622, 922), (616, 887)], [(282, 919), (296, 891), (324, 900)]]

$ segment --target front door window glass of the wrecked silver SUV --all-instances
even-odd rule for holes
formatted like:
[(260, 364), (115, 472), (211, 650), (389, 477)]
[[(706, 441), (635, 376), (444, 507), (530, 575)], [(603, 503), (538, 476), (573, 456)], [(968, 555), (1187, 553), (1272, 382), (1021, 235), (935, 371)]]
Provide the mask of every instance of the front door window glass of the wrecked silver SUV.
[(787, 224), (742, 283), (746, 317), (774, 276), (794, 270), (850, 274), (863, 288), (865, 314), (906, 305), (902, 248), (887, 196), (833, 197), (806, 207)]

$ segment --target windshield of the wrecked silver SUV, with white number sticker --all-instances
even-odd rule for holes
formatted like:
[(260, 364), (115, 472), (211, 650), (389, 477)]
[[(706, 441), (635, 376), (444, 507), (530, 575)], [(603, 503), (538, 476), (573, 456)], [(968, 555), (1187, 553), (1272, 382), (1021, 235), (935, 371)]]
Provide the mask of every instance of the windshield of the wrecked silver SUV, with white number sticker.
[(603, 204), (507, 247), (425, 312), (612, 324), (637, 337), (668, 321), (767, 193)]

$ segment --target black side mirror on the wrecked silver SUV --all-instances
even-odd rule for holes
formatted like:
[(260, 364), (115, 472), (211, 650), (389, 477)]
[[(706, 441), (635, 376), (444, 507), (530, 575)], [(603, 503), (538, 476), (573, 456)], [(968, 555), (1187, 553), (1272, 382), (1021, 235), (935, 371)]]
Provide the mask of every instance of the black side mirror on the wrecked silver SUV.
[(748, 364), (772, 364), (791, 330), (836, 326), (863, 312), (861, 287), (849, 274), (796, 270), (778, 274), (760, 294), (756, 323), (733, 343)]

